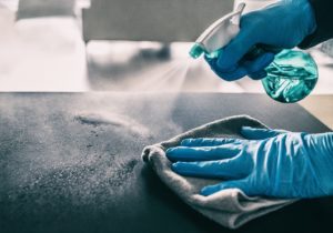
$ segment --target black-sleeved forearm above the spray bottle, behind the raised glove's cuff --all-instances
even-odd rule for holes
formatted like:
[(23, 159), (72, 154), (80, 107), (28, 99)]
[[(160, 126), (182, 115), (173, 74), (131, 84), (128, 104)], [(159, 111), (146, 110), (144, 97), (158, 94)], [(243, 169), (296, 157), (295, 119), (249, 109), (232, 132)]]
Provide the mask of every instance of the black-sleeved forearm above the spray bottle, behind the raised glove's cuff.
[(307, 36), (299, 47), (307, 49), (325, 40), (333, 38), (333, 1), (332, 0), (309, 0), (312, 6), (316, 21), (315, 31)]

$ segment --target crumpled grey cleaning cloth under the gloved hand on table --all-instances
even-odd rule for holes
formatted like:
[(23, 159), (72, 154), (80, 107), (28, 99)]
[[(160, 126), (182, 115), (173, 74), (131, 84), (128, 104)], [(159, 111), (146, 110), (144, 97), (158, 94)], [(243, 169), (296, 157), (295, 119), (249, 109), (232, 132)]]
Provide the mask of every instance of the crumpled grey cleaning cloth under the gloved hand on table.
[(165, 150), (176, 146), (186, 138), (242, 138), (242, 126), (266, 128), (263, 123), (248, 115), (238, 115), (218, 120), (182, 133), (169, 141), (147, 146), (142, 159), (150, 164), (162, 182), (176, 193), (191, 207), (209, 219), (230, 229), (236, 229), (244, 223), (269, 212), (275, 211), (294, 200), (276, 200), (261, 196), (248, 196), (239, 189), (220, 191), (210, 196), (200, 195), (203, 186), (223, 182), (222, 180), (181, 176), (171, 170), (171, 162), (165, 156)]

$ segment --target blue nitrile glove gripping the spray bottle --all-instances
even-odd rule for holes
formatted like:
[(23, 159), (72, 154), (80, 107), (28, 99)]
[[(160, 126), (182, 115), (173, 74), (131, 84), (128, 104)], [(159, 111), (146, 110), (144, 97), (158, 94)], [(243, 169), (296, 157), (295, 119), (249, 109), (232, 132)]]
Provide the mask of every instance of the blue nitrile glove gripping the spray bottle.
[(240, 33), (222, 49), (218, 59), (205, 60), (222, 79), (234, 81), (249, 75), (252, 79), (266, 77), (265, 68), (274, 60), (274, 53), (262, 53), (245, 59), (253, 45), (292, 49), (316, 28), (312, 7), (307, 0), (282, 0), (259, 11), (244, 14)]

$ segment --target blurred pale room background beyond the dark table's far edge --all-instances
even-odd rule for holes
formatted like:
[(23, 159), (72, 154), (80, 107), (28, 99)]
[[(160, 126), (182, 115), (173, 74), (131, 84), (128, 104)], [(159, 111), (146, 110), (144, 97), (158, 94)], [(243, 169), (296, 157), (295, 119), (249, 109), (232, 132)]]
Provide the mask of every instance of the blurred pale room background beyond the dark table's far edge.
[[(0, 0), (0, 91), (264, 90), (225, 82), (191, 41), (233, 0)], [(333, 93), (332, 42), (309, 52), (320, 69), (314, 94)]]

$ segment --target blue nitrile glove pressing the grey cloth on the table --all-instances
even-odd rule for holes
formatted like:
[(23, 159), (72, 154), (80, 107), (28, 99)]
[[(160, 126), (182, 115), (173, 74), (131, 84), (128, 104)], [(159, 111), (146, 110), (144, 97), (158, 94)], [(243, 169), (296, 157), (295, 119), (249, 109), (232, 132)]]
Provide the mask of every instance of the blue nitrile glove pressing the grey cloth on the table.
[(283, 199), (333, 195), (333, 133), (307, 134), (242, 128), (241, 139), (185, 139), (167, 151), (181, 175), (225, 180), (225, 189)]

